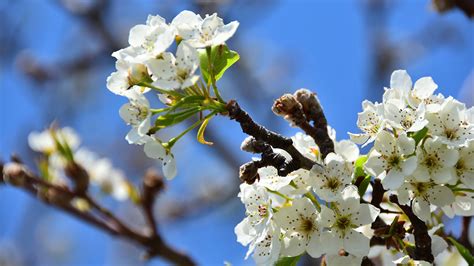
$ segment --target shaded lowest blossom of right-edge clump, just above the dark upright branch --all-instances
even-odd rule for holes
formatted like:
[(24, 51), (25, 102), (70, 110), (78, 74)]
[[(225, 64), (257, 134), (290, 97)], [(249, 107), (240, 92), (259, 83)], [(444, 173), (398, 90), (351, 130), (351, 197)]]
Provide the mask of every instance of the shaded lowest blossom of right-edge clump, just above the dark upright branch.
[(431, 206), (444, 207), (454, 202), (454, 194), (446, 186), (434, 182), (418, 182), (409, 180), (398, 190), (400, 204), (411, 206), (413, 213), (423, 221), (431, 218)]

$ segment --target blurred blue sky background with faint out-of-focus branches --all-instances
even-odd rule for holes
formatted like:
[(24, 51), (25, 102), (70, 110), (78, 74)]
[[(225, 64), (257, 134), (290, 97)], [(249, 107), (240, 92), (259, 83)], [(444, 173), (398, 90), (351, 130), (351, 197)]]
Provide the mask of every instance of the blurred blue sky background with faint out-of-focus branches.
[[(105, 80), (114, 71), (110, 54), (127, 46), (133, 25), (148, 14), (170, 21), (183, 9), (240, 22), (228, 44), (241, 60), (220, 81), (222, 94), (286, 135), (295, 129), (270, 110), (282, 93), (315, 91), (344, 139), (358, 131), (361, 102), (380, 100), (400, 68), (414, 81), (433, 76), (439, 92), (468, 106), (474, 101), (474, 25), (458, 9), (438, 13), (429, 0), (1, 0), (0, 159), (17, 153), (33, 167), (27, 135), (56, 121), (75, 128), (82, 146), (111, 158), (135, 184), (147, 168), (159, 169), (125, 141), (118, 109), (126, 99)], [(244, 137), (221, 117), (206, 131), (213, 146), (194, 134), (176, 146), (179, 175), (158, 198), (156, 216), (165, 239), (199, 264), (253, 264), (234, 235), (244, 217), (238, 167), (251, 157), (239, 149)], [(107, 204), (140, 223), (131, 203)], [(0, 187), (0, 265), (139, 265), (139, 257), (135, 246)]]

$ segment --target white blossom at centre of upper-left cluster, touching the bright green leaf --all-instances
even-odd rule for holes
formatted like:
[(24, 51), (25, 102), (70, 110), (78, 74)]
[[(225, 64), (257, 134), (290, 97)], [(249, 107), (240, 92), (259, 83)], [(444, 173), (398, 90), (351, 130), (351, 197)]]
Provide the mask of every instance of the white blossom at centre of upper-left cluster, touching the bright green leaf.
[(176, 58), (172, 53), (164, 53), (158, 59), (148, 60), (147, 65), (155, 79), (153, 85), (162, 89), (185, 89), (199, 80), (194, 74), (199, 66), (199, 55), (185, 42), (178, 45)]

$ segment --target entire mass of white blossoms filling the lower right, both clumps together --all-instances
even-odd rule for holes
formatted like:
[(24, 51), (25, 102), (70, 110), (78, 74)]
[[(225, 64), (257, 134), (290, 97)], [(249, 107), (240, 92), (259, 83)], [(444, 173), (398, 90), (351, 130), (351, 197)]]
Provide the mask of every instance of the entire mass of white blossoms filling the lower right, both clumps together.
[[(435, 234), (442, 226), (438, 214), (474, 213), (474, 111), (434, 94), (437, 87), (430, 77), (413, 85), (406, 71), (395, 71), (382, 103), (363, 102), (357, 121), (362, 133), (336, 141), (328, 128), (335, 148), (324, 159), (310, 136), (297, 133), (293, 145), (316, 163), (311, 170), (279, 176), (266, 166), (258, 170), (255, 183), (240, 186), (246, 217), (235, 233), (238, 242), (249, 246), (247, 257), (253, 253), (256, 264), (273, 265), (304, 253), (315, 258), (325, 254), (328, 265), (360, 265), (365, 256), (380, 255), (369, 242), (377, 217), (388, 225), (404, 220), (406, 232), (410, 221), (396, 215), (401, 210), (387, 200), (382, 207), (391, 212), (382, 215), (369, 203), (370, 185), (356, 182), (360, 177), (380, 180), (388, 195), (411, 206), (431, 228), (434, 256), (446, 251), (447, 242)], [(359, 154), (356, 144), (370, 143), (368, 154)], [(283, 150), (274, 152), (291, 159)], [(404, 246), (414, 245), (413, 235), (397, 239), (399, 248), (387, 252), (389, 264), (429, 265), (408, 257)]]

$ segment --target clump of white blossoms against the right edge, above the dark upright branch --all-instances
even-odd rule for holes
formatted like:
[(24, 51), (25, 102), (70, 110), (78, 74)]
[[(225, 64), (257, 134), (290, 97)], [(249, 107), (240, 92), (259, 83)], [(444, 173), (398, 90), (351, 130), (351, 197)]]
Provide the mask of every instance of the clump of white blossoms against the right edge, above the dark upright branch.
[(425, 222), (437, 208), (450, 217), (474, 214), (474, 109), (437, 88), (431, 77), (413, 85), (406, 71), (395, 71), (383, 102), (362, 104), (363, 133), (351, 134), (375, 142), (365, 170)]

